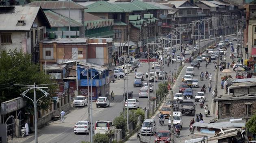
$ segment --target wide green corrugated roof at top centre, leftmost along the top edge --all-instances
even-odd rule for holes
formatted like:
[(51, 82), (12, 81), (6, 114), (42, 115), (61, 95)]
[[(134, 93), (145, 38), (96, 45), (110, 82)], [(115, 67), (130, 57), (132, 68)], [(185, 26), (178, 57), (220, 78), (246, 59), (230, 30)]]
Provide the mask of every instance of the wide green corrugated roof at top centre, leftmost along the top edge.
[(85, 9), (87, 13), (124, 13), (132, 12), (117, 6), (116, 4), (109, 3), (106, 1), (98, 1), (93, 4), (86, 6), (88, 9)]

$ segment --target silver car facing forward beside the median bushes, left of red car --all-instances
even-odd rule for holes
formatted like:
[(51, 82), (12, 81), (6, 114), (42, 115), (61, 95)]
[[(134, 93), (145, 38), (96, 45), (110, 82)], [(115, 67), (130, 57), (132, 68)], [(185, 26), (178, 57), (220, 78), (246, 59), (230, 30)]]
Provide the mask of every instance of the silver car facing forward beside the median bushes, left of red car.
[(156, 121), (154, 119), (146, 119), (141, 126), (141, 135), (154, 135), (156, 133)]

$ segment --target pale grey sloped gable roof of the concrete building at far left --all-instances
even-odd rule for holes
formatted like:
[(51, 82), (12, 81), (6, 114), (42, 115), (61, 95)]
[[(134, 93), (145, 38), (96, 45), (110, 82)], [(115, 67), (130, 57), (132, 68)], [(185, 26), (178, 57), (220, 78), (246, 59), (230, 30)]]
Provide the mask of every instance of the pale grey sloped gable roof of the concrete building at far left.
[[(4, 12), (0, 14), (0, 31), (29, 31), (37, 15), (47, 28), (51, 27), (43, 10), (37, 6), (0, 6), (0, 11)], [(24, 20), (25, 25), (16, 26), (18, 20)]]

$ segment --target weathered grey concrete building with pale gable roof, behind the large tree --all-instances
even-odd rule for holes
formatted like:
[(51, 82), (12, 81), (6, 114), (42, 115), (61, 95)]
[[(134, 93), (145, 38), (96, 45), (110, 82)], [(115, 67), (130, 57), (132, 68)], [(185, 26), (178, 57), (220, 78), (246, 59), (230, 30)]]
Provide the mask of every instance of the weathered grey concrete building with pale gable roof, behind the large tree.
[(0, 6), (0, 50), (23, 50), (39, 62), (39, 41), (50, 23), (39, 6)]

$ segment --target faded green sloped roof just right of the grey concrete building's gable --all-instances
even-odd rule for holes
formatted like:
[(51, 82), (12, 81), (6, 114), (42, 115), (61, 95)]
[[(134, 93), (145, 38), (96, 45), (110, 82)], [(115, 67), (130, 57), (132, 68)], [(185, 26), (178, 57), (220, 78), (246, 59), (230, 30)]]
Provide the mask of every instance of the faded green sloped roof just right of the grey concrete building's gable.
[[(46, 14), (46, 17), (50, 22), (51, 27), (67, 27), (69, 25), (68, 17), (64, 17), (63, 15), (54, 13), (53, 11), (50, 10), (44, 10), (43, 12)], [(70, 26), (78, 27), (82, 26), (82, 23), (70, 19)]]

